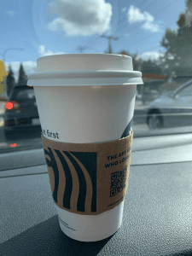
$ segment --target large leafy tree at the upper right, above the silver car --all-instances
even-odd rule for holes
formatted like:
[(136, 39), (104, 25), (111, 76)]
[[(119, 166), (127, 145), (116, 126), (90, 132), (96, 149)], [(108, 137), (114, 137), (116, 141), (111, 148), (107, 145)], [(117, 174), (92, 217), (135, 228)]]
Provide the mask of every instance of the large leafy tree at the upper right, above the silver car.
[(192, 74), (192, 19), (189, 19), (189, 15), (186, 19), (186, 14), (191, 13), (191, 3), (192, 0), (186, 1), (187, 10), (177, 20), (177, 31), (167, 28), (160, 42), (166, 49), (160, 58), (161, 67), (169, 77)]

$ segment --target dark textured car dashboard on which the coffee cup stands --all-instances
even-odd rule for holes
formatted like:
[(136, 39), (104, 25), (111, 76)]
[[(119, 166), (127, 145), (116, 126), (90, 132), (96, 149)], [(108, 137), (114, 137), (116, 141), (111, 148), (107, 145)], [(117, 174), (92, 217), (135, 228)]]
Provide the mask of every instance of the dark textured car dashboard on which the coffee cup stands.
[(95, 242), (62, 233), (43, 145), (0, 154), (1, 255), (192, 255), (191, 144), (191, 133), (133, 139), (122, 225)]

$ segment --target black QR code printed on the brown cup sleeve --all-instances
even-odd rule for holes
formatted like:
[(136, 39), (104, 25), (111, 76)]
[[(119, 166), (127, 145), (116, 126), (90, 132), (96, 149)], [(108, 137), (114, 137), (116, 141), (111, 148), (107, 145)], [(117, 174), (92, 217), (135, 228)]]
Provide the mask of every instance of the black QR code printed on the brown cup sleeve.
[(125, 182), (127, 176), (127, 168), (125, 167), (123, 171), (113, 172), (111, 174), (111, 187), (110, 187), (110, 197), (117, 195), (123, 189), (125, 189)]

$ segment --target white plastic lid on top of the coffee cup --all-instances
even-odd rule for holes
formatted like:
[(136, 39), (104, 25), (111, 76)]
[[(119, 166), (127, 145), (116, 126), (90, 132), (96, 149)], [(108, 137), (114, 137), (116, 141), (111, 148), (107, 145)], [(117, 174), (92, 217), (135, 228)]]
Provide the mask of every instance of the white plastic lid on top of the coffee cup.
[(64, 54), (38, 58), (37, 73), (27, 85), (143, 84), (142, 73), (133, 71), (132, 58), (112, 54)]

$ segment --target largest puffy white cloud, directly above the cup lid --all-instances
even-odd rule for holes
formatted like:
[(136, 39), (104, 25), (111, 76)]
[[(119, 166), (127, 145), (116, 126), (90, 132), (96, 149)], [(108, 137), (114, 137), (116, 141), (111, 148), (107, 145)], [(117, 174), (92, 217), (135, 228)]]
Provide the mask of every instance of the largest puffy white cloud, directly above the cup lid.
[(57, 16), (48, 25), (54, 32), (90, 36), (111, 29), (112, 5), (105, 0), (54, 0), (49, 3), (49, 11)]

